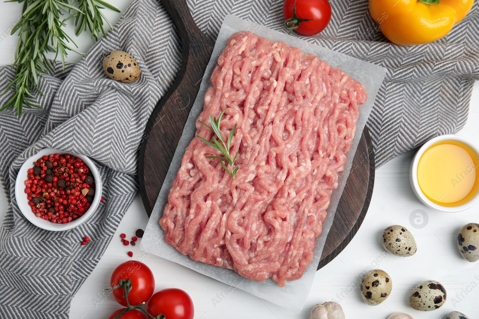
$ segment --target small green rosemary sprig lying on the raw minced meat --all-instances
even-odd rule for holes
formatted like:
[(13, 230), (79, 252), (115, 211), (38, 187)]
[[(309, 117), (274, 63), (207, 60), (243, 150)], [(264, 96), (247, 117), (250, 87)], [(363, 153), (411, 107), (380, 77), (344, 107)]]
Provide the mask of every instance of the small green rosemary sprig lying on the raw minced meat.
[[(236, 172), (238, 172), (239, 166), (236, 166), (235, 168), (233, 168), (233, 165), (235, 164), (236, 158), (238, 158), (238, 152), (236, 152), (234, 159), (231, 160), (231, 156), (229, 156), (229, 149), (231, 147), (231, 140), (233, 139), (233, 136), (236, 131), (236, 124), (233, 127), (233, 129), (229, 132), (228, 141), (225, 143), (225, 141), (223, 140), (223, 136), (221, 135), (221, 130), (219, 128), (219, 123), (221, 122), (221, 118), (223, 117), (225, 110), (221, 112), (218, 119), (212, 117), (211, 114), (208, 114), (211, 126), (209, 126), (203, 121), (198, 121), (201, 124), (208, 127), (213, 133), (215, 133), (215, 135), (218, 137), (221, 144), (218, 142), (218, 140), (214, 136), (213, 136), (213, 143), (206, 141), (201, 136), (198, 136), (198, 138), (202, 140), (203, 142), (205, 142), (206, 144), (208, 144), (209, 146), (223, 153), (224, 157), (223, 156), (205, 156), (205, 157), (219, 159), (219, 163), (221, 164), (221, 166), (223, 166), (223, 168), (229, 174), (229, 176), (235, 179), (235, 175), (236, 175)], [(229, 167), (231, 167), (231, 171), (228, 170), (228, 167), (225, 165), (225, 162), (228, 163)]]

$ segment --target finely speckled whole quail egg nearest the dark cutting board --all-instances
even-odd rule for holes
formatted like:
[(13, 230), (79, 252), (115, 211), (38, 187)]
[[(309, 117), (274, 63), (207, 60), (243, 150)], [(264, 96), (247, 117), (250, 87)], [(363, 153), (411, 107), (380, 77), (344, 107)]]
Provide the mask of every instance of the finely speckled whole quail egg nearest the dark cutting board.
[(412, 256), (418, 250), (416, 241), (406, 227), (392, 225), (384, 230), (383, 247), (398, 256)]

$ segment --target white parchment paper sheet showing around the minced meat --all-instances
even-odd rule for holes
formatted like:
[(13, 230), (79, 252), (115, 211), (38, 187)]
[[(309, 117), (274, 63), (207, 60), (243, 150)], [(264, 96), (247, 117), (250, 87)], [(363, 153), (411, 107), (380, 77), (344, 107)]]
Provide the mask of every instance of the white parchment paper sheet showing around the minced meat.
[[(323, 231), (316, 240), (314, 259), (311, 264), (309, 264), (304, 275), (298, 280), (286, 282), (285, 288), (280, 288), (277, 283), (271, 279), (260, 283), (247, 279), (237, 274), (233, 270), (194, 261), (189, 256), (183, 255), (165, 242), (165, 234), (159, 224), (160, 217), (163, 215), (163, 209), (168, 201), (168, 194), (170, 193), (172, 181), (174, 178), (176, 178), (178, 170), (180, 169), (181, 158), (186, 147), (194, 138), (196, 132), (195, 121), (203, 110), (206, 89), (210, 86), (209, 78), (211, 73), (213, 72), (214, 67), (217, 65), (219, 55), (226, 47), (226, 41), (230, 36), (238, 31), (251, 31), (252, 33), (272, 41), (284, 41), (291, 46), (301, 49), (301, 51), (306, 54), (315, 54), (319, 56), (320, 59), (326, 61), (332, 67), (342, 69), (346, 74), (361, 82), (366, 89), (368, 97), (365, 104), (361, 105), (359, 108), (359, 119), (357, 121), (357, 129), (354, 136), (353, 146), (346, 156), (346, 165), (344, 171), (340, 174), (339, 186), (332, 192), (331, 204), (327, 209), (328, 216), (323, 223)], [(143, 239), (141, 240), (140, 249), (162, 258), (166, 258), (175, 263), (182, 264), (183, 266), (193, 269), (208, 277), (219, 280), (227, 285), (238, 287), (239, 289), (247, 291), (257, 297), (264, 298), (276, 305), (299, 313), (303, 308), (306, 298), (308, 297), (309, 290), (311, 289), (324, 243), (326, 242), (328, 232), (331, 228), (334, 213), (336, 211), (339, 199), (341, 198), (342, 190), (346, 184), (346, 179), (348, 178), (351, 169), (353, 157), (361, 138), (361, 133), (363, 132), (367, 118), (369, 117), (369, 113), (371, 112), (376, 99), (377, 91), (379, 90), (385, 75), (386, 68), (381, 66), (376, 66), (349, 55), (344, 55), (342, 53), (331, 51), (327, 48), (309, 44), (306, 41), (289, 36), (286, 33), (273, 31), (257, 23), (241, 20), (234, 15), (227, 15), (218, 34), (215, 48), (206, 68), (205, 76), (201, 82), (201, 88), (198, 92), (198, 96), (194, 101), (188, 121), (184, 127), (182, 137), (178, 143), (178, 147), (176, 148), (176, 152), (168, 170), (168, 174), (163, 182), (157, 202), (148, 221), (148, 226), (145, 230)]]

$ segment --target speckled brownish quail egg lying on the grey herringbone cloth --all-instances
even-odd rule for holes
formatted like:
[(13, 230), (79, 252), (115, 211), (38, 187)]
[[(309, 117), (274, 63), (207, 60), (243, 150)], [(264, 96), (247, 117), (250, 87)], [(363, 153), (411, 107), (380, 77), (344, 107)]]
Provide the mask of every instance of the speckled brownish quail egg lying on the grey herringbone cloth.
[(130, 83), (140, 77), (137, 60), (125, 51), (115, 50), (103, 58), (105, 74), (116, 81)]

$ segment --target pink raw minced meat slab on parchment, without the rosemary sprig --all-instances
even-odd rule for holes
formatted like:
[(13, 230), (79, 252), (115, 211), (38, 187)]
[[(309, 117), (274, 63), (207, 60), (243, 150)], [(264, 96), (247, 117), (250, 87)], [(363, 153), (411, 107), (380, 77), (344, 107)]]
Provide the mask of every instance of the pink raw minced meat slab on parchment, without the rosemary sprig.
[(231, 178), (205, 157), (222, 154), (195, 137), (160, 219), (165, 240), (196, 261), (285, 286), (313, 259), (365, 89), (315, 55), (250, 32), (228, 40), (211, 83), (198, 120), (226, 109), (221, 132), (226, 140), (237, 125), (230, 154), (239, 152), (239, 170)]

